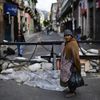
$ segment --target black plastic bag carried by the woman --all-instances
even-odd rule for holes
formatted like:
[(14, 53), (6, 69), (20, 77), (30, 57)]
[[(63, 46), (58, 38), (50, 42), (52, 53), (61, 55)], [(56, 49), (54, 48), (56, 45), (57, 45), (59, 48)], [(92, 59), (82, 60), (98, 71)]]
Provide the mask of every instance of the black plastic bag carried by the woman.
[(68, 86), (73, 88), (84, 86), (83, 77), (78, 71), (72, 72), (71, 77), (68, 80)]

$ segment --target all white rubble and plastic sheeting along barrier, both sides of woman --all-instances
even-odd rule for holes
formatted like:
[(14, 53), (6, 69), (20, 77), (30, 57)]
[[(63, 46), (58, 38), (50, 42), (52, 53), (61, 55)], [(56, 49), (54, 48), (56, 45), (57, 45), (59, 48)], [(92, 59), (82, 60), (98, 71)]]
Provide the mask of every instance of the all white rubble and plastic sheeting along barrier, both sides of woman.
[[(83, 49), (83, 48), (82, 48)], [(98, 55), (97, 50), (90, 49), (86, 51), (83, 49), (86, 55)], [(82, 55), (80, 51), (80, 55)], [(27, 58), (16, 57), (15, 59), (27, 60)], [(15, 80), (18, 84), (26, 84), (33, 87), (39, 87), (42, 89), (63, 91), (65, 88), (60, 86), (60, 70), (52, 70), (53, 64), (47, 60), (36, 57), (31, 61), (37, 61), (39, 63), (26, 64), (23, 63), (11, 63), (0, 62), (2, 80)], [(99, 60), (81, 60), (81, 74), (86, 76), (87, 72), (98, 72), (100, 70)]]

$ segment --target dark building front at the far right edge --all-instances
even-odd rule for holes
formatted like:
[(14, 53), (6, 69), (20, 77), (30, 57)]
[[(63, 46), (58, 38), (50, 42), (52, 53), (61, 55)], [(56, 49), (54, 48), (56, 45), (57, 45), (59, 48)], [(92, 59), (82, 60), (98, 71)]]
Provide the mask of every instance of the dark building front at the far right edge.
[(100, 0), (88, 0), (88, 7), (90, 36), (100, 40)]

